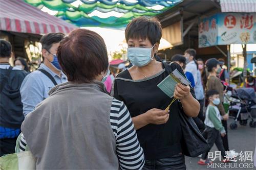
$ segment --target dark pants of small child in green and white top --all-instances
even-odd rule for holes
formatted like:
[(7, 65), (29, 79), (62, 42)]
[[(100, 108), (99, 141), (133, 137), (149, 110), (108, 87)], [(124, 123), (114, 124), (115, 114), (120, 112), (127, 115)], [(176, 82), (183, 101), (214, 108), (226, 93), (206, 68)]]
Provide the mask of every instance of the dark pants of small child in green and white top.
[[(210, 128), (208, 126), (206, 126), (206, 131), (207, 131), (207, 135), (208, 135), (207, 142), (209, 144), (209, 148), (211, 149), (215, 143), (218, 150), (221, 151), (222, 158), (224, 158), (225, 149), (223, 147), (220, 132), (218, 130), (216, 130), (215, 128)], [(207, 152), (203, 153), (202, 159), (207, 159), (208, 152), (210, 151), (210, 149)]]

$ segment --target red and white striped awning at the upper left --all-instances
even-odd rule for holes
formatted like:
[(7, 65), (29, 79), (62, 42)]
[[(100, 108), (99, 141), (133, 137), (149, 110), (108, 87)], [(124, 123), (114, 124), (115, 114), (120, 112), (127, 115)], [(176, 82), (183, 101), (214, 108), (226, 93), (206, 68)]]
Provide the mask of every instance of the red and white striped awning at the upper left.
[(22, 0), (0, 0), (0, 30), (19, 33), (69, 33), (76, 26)]

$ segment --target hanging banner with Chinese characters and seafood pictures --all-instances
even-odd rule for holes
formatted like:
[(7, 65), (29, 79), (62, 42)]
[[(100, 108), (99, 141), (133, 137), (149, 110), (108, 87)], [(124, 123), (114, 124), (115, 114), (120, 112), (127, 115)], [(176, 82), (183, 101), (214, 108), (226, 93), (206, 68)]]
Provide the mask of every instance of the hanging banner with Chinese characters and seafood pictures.
[(219, 13), (199, 23), (199, 47), (256, 43), (256, 13)]

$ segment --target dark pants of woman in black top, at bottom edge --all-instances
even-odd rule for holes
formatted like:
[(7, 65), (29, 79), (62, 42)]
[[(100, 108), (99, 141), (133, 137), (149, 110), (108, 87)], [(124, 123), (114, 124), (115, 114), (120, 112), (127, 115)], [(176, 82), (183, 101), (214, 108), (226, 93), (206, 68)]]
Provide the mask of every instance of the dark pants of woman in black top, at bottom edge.
[(158, 160), (146, 160), (142, 169), (181, 169), (185, 170), (185, 157), (182, 154), (174, 155), (170, 158)]

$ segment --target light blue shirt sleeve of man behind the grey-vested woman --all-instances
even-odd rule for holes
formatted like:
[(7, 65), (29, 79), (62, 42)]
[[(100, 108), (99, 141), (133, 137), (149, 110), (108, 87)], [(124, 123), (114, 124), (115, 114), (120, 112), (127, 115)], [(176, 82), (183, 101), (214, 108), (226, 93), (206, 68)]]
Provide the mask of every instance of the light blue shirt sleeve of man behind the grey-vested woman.
[(44, 100), (44, 91), (42, 85), (33, 76), (28, 75), (20, 87), (20, 95), (22, 96), (23, 113), (26, 116), (32, 112), (35, 106)]

